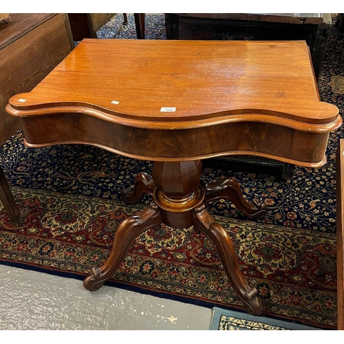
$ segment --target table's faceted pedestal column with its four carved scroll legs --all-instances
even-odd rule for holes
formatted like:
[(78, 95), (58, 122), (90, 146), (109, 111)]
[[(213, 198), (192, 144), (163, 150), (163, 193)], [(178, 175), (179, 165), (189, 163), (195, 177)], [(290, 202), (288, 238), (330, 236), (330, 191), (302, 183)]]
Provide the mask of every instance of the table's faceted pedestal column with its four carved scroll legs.
[(125, 258), (133, 240), (149, 228), (162, 223), (173, 228), (193, 226), (197, 233), (202, 232), (215, 246), (237, 296), (244, 302), (251, 314), (262, 314), (263, 306), (257, 298), (257, 289), (251, 288), (241, 275), (233, 242), (228, 232), (206, 211), (206, 205), (214, 200), (226, 199), (245, 215), (264, 216), (265, 203), (246, 201), (239, 184), (233, 179), (200, 185), (202, 175), (201, 160), (187, 162), (155, 162), (152, 177), (138, 173), (133, 191), (123, 191), (127, 202), (137, 202), (142, 195), (153, 196), (153, 202), (140, 215), (125, 219), (114, 237), (111, 255), (101, 268), (92, 268), (83, 285), (87, 290), (98, 290), (114, 273)]

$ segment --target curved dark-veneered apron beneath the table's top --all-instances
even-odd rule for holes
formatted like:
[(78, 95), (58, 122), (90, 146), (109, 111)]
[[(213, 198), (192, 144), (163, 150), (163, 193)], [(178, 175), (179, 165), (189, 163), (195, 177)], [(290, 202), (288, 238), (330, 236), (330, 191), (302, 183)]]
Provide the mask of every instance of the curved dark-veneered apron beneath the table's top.
[(325, 163), (329, 133), (299, 131), (264, 122), (234, 122), (193, 129), (145, 129), (85, 114), (19, 118), (29, 147), (92, 144), (152, 161), (186, 161), (219, 155), (259, 155), (301, 166)]

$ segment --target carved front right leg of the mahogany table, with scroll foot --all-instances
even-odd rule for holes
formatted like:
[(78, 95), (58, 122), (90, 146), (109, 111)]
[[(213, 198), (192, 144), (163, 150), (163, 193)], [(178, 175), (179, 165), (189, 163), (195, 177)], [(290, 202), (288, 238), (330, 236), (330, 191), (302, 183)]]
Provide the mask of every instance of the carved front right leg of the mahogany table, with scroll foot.
[(193, 211), (193, 222), (194, 227), (206, 235), (215, 246), (230, 284), (239, 299), (244, 303), (246, 310), (250, 314), (261, 315), (263, 313), (263, 305), (257, 298), (257, 289), (248, 286), (248, 283), (241, 275), (230, 235), (208, 214), (204, 204)]

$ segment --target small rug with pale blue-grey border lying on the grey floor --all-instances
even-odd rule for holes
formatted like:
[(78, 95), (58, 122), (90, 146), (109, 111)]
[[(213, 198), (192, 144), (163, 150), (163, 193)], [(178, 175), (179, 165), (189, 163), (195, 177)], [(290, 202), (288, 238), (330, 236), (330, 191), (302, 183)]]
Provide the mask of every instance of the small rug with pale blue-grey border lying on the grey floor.
[(209, 330), (319, 330), (315, 327), (299, 325), (265, 316), (254, 316), (247, 313), (213, 308)]

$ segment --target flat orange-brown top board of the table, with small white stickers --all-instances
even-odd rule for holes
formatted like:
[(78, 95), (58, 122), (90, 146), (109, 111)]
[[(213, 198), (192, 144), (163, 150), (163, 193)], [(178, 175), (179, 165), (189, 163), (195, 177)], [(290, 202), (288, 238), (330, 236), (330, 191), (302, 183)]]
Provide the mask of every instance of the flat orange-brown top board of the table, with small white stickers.
[[(308, 47), (300, 41), (85, 39), (25, 103), (18, 102), (23, 98), (19, 94), (11, 105), (82, 105), (144, 120), (190, 120), (257, 109), (309, 122), (336, 118), (336, 107), (319, 104), (318, 97)], [(161, 107), (177, 110), (166, 116)]]

